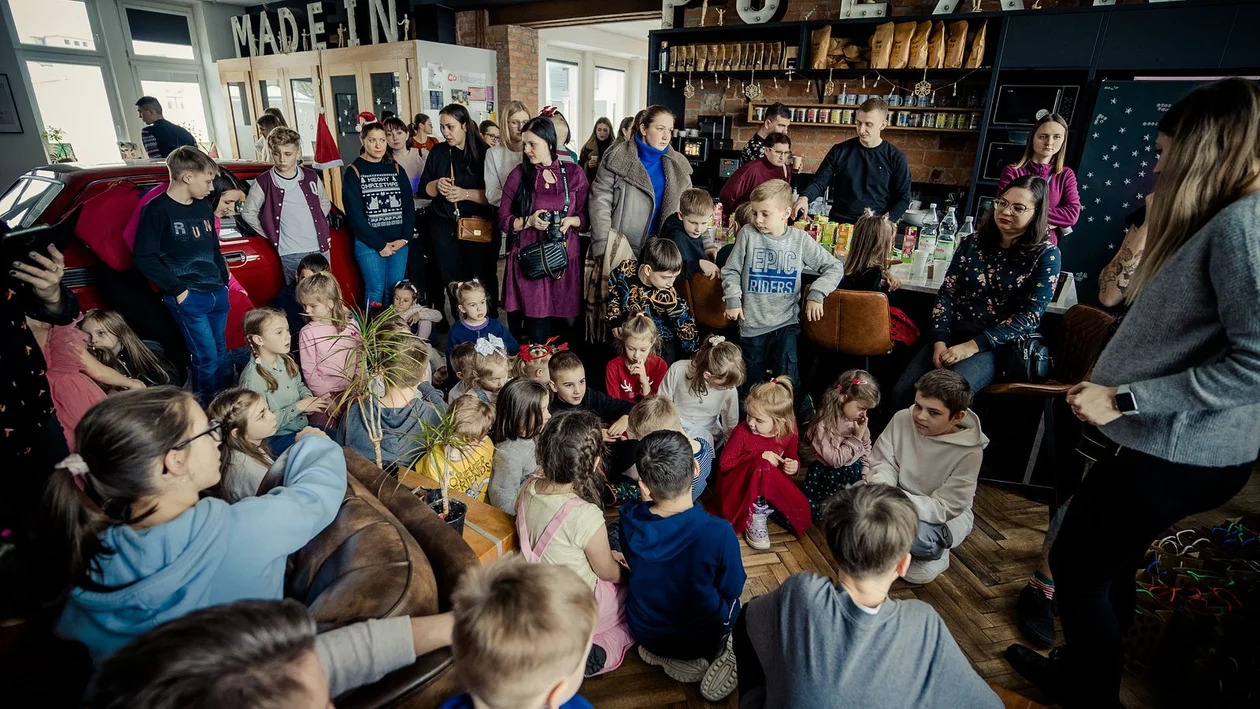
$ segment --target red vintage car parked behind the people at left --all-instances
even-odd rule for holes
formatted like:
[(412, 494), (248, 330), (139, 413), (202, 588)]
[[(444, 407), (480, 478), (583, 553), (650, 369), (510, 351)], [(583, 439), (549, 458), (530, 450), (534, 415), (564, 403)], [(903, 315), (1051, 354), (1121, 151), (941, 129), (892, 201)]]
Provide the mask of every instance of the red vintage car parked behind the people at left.
[[(271, 167), (270, 164), (265, 162), (239, 160), (220, 161), (219, 165), (246, 184), (253, 184), (257, 175)], [(145, 162), (87, 167), (77, 164), (59, 164), (38, 167), (19, 178), (0, 196), (0, 219), (8, 223), (11, 229), (34, 224), (52, 224), (120, 180), (130, 181), (147, 191), (150, 188), (168, 181), (166, 165)], [(334, 212), (336, 212), (335, 208)], [(228, 269), (244, 287), (248, 297), (233, 293), (232, 312), (228, 316), (227, 327), (228, 349), (244, 345), (241, 332), (241, 319), (244, 312), (255, 306), (272, 303), (285, 286), (280, 256), (271, 242), (262, 235), (242, 233), (236, 222), (239, 220), (223, 219), (219, 248), (228, 263)], [(330, 222), (334, 224), (330, 246), (333, 275), (340, 282), (346, 302), (357, 305), (363, 293), (363, 281), (354, 262), (353, 237), (345, 228), (338, 227), (340, 224), (339, 217), (330, 219)], [(78, 228), (82, 230), (91, 228), (91, 225), (79, 224)], [(121, 234), (118, 237), (121, 238)], [(108, 292), (110, 287), (106, 285), (113, 282), (115, 275), (101, 271), (110, 269), (110, 267), (102, 263), (86, 243), (76, 239), (66, 251), (66, 269), (64, 283), (78, 296), (84, 310), (113, 307), (113, 300)], [(132, 326), (137, 331), (142, 329), (136, 324)], [(141, 336), (145, 336), (144, 332)]]

